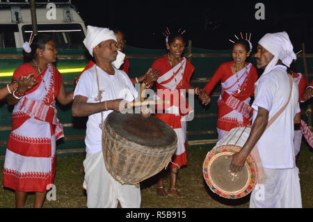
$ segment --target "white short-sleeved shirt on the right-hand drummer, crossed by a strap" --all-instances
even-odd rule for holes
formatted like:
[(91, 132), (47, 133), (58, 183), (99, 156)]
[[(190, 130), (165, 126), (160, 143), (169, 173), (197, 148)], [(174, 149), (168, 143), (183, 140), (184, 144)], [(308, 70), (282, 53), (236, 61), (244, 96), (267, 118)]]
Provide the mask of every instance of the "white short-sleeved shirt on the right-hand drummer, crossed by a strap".
[[(262, 75), (255, 83), (252, 124), (257, 117), (259, 106), (269, 112), (268, 120), (270, 120), (287, 103), (290, 90), (287, 68), (284, 65), (275, 65), (271, 72)], [(298, 94), (298, 86), (293, 81), (289, 104), (257, 141), (264, 168), (293, 168), (295, 166), (293, 140), (294, 116), (300, 112)]]

